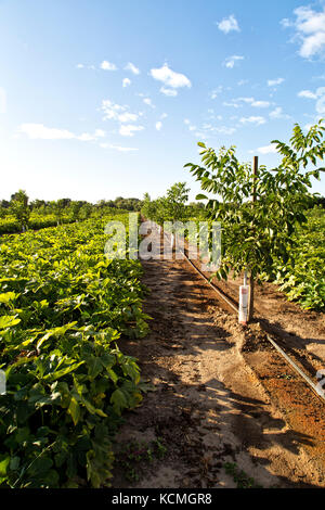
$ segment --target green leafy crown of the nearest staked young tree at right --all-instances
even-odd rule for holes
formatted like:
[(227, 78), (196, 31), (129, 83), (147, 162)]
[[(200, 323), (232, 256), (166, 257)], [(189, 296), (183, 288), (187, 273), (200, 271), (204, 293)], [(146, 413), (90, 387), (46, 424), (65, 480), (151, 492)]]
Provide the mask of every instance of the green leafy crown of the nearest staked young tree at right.
[(221, 222), (222, 265), (218, 278), (226, 278), (230, 270), (238, 275), (247, 269), (257, 279), (261, 273), (274, 278), (276, 260), (290, 264), (297, 246), (295, 232), (307, 221), (303, 211), (312, 202), (311, 179), (318, 179), (324, 170), (307, 169), (323, 158), (324, 129), (320, 120), (304, 136), (296, 125), (290, 145), (274, 141), (283, 156), (280, 166), (272, 170), (259, 166), (256, 176), (249, 163), (238, 162), (234, 146), (223, 146), (217, 154), (198, 143), (203, 165), (188, 163), (185, 167), (204, 191), (218, 195), (218, 200), (197, 196), (207, 200), (209, 217)]

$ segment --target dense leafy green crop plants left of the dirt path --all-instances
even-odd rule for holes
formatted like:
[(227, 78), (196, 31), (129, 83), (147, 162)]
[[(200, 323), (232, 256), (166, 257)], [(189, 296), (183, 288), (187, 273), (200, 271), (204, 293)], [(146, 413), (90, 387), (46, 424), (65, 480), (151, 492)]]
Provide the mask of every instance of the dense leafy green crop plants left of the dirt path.
[(108, 219), (0, 241), (3, 487), (109, 484), (120, 415), (142, 398), (117, 342), (143, 336), (147, 317), (140, 263), (104, 256)]

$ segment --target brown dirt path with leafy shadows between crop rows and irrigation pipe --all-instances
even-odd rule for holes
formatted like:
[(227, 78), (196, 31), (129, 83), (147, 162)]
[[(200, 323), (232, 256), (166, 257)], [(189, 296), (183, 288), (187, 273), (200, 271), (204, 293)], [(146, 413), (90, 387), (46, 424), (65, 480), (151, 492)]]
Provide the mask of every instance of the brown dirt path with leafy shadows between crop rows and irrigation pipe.
[[(158, 438), (166, 455), (136, 463), (139, 480), (136, 474), (126, 480), (126, 466), (118, 461), (113, 486), (324, 487), (325, 457), (317, 450), (325, 444), (324, 408), (314, 397), (318, 429), (310, 434), (287, 420), (282, 403), (271, 400), (272, 386), (270, 393), (261, 381), (276, 355), (256, 347), (258, 324), (245, 331), (185, 260), (143, 266), (151, 333), (123, 341), (121, 349), (138, 358), (155, 391), (127, 415), (117, 450), (134, 439), (152, 445)], [(263, 346), (262, 340), (258, 344)], [(259, 365), (262, 375), (253, 370)], [(239, 482), (237, 470), (245, 473)]]

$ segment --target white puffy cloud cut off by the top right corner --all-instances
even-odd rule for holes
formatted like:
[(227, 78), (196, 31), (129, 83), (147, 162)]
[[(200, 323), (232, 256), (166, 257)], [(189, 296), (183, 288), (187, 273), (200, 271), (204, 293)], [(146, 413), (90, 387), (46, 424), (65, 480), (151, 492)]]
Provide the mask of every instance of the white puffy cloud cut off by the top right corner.
[(282, 26), (294, 27), (295, 37), (300, 43), (299, 55), (311, 59), (322, 54), (325, 50), (325, 8), (323, 11), (313, 11), (309, 5), (295, 9), (296, 20), (290, 22), (282, 20)]

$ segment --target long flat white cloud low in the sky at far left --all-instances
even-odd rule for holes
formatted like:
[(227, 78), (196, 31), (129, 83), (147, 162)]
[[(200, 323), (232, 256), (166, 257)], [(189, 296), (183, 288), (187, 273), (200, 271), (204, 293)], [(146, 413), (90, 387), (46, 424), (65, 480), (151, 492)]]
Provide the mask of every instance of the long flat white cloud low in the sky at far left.
[(82, 135), (76, 135), (67, 129), (49, 128), (43, 124), (22, 124), (18, 128), (18, 132), (27, 135), (31, 140), (80, 140), (91, 141), (98, 138), (103, 138), (105, 131), (96, 129), (94, 133), (83, 132)]

